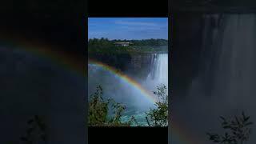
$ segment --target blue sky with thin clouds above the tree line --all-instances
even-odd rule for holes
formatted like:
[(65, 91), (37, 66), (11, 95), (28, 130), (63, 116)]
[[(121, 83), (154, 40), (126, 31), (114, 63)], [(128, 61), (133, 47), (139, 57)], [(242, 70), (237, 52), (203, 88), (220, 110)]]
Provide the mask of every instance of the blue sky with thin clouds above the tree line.
[(168, 39), (168, 18), (88, 18), (88, 38)]

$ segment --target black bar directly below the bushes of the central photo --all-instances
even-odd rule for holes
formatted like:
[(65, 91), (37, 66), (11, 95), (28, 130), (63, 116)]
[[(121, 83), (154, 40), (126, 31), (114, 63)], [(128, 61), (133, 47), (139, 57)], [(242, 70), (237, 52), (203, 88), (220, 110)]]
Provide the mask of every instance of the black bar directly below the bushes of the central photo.
[(168, 142), (167, 127), (88, 127), (89, 144)]

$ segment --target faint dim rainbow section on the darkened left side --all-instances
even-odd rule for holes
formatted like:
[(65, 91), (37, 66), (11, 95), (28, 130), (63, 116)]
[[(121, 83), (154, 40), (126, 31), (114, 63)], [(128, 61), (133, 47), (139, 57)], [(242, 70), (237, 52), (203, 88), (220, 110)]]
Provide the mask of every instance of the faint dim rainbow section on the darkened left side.
[(26, 54), (31, 54), (38, 58), (42, 58), (45, 60), (50, 60), (51, 64), (54, 66), (58, 66), (68, 72), (72, 72), (74, 76), (82, 76), (86, 77), (86, 66), (85, 59), (78, 59), (74, 57), (74, 55), (62, 51), (61, 48), (55, 49), (56, 46), (51, 46), (47, 44), (42, 44), (42, 42), (30, 42), (25, 38), (18, 38), (18, 42), (10, 41), (13, 38), (2, 38), (1, 42), (5, 43), (3, 47), (6, 47), (6, 50), (20, 50), (25, 52)]

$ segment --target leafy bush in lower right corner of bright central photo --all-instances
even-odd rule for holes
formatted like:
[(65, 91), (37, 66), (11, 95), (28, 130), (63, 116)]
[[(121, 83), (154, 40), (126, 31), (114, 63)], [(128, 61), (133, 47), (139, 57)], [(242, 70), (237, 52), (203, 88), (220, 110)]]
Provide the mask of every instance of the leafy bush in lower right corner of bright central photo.
[(168, 126), (168, 94), (165, 85), (157, 86), (154, 94), (158, 96), (158, 102), (155, 103), (156, 109), (150, 109), (146, 113), (146, 122), (148, 126)]

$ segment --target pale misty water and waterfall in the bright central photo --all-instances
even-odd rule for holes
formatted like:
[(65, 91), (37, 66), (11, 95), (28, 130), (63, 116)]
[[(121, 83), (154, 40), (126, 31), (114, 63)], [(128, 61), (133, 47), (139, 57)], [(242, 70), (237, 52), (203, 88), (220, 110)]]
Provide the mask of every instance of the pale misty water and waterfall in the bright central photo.
[[(128, 75), (149, 93), (153, 94), (152, 91), (159, 84), (166, 84), (167, 86), (168, 54), (153, 54), (150, 61), (150, 72), (145, 78), (138, 79), (137, 75)], [(123, 121), (127, 121), (131, 115), (134, 115), (140, 125), (146, 126), (145, 112), (150, 108), (154, 108), (152, 100), (142, 95), (136, 86), (124, 81), (118, 75), (91, 63), (89, 63), (88, 67), (89, 95), (94, 93), (96, 86), (101, 85), (104, 98), (114, 98), (115, 101), (126, 105), (126, 111), (122, 117)], [(124, 73), (128, 72), (125, 71)]]

